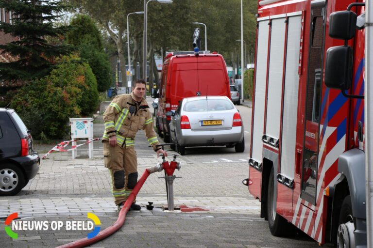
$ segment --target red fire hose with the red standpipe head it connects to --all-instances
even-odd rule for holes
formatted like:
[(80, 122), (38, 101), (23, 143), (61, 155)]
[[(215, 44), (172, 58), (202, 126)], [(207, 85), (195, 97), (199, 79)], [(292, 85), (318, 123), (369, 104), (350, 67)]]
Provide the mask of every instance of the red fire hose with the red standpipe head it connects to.
[[(117, 232), (123, 226), (124, 221), (126, 219), (127, 212), (129, 211), (132, 202), (134, 202), (138, 191), (140, 191), (141, 187), (143, 186), (143, 184), (145, 183), (146, 179), (148, 178), (148, 176), (150, 174), (152, 174), (156, 171), (165, 170), (167, 175), (172, 176), (173, 178), (175, 177), (175, 176), (172, 175), (173, 172), (175, 171), (175, 169), (180, 170), (180, 167), (181, 167), (180, 163), (175, 161), (175, 158), (176, 158), (176, 155), (174, 155), (174, 160), (171, 161), (171, 163), (169, 164), (169, 162), (166, 161), (165, 157), (163, 156), (162, 164), (157, 164), (156, 166), (145, 169), (144, 173), (142, 174), (140, 179), (137, 181), (136, 186), (132, 190), (130, 196), (125, 201), (125, 203), (123, 205), (123, 208), (119, 212), (118, 219), (113, 225), (109, 226), (108, 228), (106, 228), (102, 232), (98, 233), (93, 238), (79, 239), (79, 240), (76, 240), (74, 242), (59, 246), (58, 248), (81, 248), (81, 247), (86, 247), (86, 246), (92, 245), (94, 243), (97, 243), (100, 240), (102, 240), (102, 239), (110, 236), (111, 234)], [(172, 206), (173, 206), (173, 199), (172, 199)], [(169, 205), (169, 209), (170, 209), (170, 205)]]

